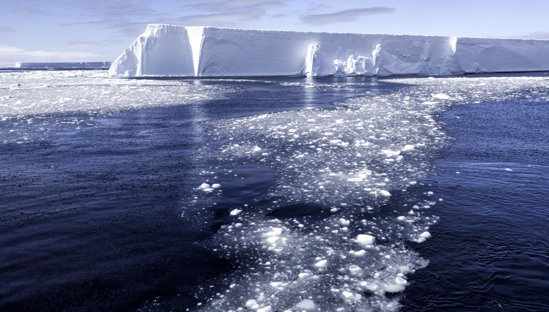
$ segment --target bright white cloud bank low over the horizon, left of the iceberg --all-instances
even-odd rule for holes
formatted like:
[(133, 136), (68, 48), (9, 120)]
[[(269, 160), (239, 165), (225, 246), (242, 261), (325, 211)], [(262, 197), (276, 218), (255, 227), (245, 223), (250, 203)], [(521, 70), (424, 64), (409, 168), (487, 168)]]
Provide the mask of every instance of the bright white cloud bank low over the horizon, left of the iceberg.
[[(110, 60), (111, 55), (100, 55), (92, 52), (79, 51), (30, 51), (19, 47), (0, 44), (0, 57), (4, 62), (89, 62)], [(107, 58), (107, 59), (105, 59)]]

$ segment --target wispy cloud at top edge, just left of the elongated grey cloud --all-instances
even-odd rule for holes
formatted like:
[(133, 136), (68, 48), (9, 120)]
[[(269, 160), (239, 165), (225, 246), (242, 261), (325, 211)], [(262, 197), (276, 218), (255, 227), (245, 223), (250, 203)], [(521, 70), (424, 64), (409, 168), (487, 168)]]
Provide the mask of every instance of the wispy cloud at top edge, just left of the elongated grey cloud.
[(284, 5), (278, 0), (203, 0), (181, 5), (182, 9), (198, 11), (177, 18), (189, 26), (236, 26), (244, 21), (261, 20), (268, 9)]

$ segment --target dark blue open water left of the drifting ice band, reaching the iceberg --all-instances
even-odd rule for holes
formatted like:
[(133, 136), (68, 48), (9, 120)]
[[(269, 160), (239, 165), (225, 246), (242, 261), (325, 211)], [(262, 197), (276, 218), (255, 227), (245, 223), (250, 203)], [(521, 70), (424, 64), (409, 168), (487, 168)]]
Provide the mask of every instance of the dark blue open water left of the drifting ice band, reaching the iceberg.
[[(376, 94), (401, 86), (368, 78), (328, 82), (353, 87), (304, 92), (226, 80), (247, 91), (131, 110), (96, 120), (104, 127), (61, 129), (43, 141), (0, 144), (0, 311), (127, 311), (227, 271), (231, 263), (201, 244), (215, 227), (180, 217), (187, 182), (202, 168), (192, 157), (209, 131), (200, 121), (326, 108), (356, 90)], [(246, 183), (236, 181), (231, 197), (258, 197), (269, 186)]]

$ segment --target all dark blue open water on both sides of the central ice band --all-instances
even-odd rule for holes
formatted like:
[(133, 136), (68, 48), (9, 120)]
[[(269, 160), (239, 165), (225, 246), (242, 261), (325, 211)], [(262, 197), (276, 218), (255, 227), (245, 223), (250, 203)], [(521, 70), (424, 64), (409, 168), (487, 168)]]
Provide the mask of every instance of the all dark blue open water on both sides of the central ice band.
[[(0, 145), (0, 310), (130, 311), (231, 270), (205, 247), (215, 218), (196, 214), (204, 227), (180, 217), (187, 182), (205, 166), (193, 160), (209, 131), (201, 121), (328, 108), (357, 89), (402, 86), (325, 81), (354, 90), (225, 81), (248, 91)], [(424, 182), (444, 198), (431, 211), (440, 223), (427, 243), (410, 243), (430, 264), (410, 276), (402, 310), (549, 310), (549, 104), (455, 105), (439, 118), (454, 140)], [(241, 169), (255, 180), (234, 181), (227, 200), (264, 196), (268, 169)]]

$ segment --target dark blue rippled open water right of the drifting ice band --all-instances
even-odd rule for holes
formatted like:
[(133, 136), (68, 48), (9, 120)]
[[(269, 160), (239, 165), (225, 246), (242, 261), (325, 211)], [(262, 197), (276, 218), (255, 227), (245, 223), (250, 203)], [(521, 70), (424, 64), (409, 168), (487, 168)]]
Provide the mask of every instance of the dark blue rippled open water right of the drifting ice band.
[(455, 141), (425, 182), (445, 202), (433, 239), (414, 246), (430, 263), (403, 310), (548, 311), (549, 103), (455, 105), (441, 117)]

